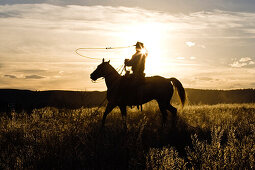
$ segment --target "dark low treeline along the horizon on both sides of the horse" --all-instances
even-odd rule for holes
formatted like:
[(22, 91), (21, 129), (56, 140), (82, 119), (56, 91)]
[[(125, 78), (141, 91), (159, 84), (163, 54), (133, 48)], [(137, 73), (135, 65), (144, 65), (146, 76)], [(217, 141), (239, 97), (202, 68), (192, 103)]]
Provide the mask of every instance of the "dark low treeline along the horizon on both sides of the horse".
[[(200, 90), (186, 89), (189, 104), (255, 103), (255, 89)], [(31, 112), (34, 108), (76, 109), (100, 105), (106, 92), (99, 91), (30, 91), (0, 89), (0, 112)], [(177, 102), (176, 94), (174, 102)]]

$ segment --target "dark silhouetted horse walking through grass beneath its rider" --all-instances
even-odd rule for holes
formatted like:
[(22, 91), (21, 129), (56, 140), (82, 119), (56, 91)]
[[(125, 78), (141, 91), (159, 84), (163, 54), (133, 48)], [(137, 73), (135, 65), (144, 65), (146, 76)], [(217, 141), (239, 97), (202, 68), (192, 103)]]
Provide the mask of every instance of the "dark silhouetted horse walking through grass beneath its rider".
[(162, 125), (167, 120), (167, 110), (172, 113), (172, 125), (177, 118), (177, 109), (170, 104), (173, 96), (173, 86), (177, 89), (182, 106), (186, 101), (185, 90), (179, 80), (176, 78), (164, 78), (161, 76), (145, 77), (143, 83), (132, 86), (132, 82), (125, 80), (113, 66), (110, 60), (99, 64), (95, 71), (90, 74), (90, 78), (96, 81), (103, 77), (107, 86), (107, 100), (105, 112), (102, 119), (102, 128), (105, 125), (107, 115), (115, 108), (119, 107), (122, 115), (124, 126), (126, 127), (127, 106), (138, 106), (151, 100), (156, 100), (162, 113)]

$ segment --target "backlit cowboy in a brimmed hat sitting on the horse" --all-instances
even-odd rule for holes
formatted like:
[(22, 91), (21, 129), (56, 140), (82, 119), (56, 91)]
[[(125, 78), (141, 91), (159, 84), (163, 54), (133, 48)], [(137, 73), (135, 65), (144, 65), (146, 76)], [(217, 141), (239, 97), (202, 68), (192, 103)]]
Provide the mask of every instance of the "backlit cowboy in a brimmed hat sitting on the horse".
[(136, 43), (136, 53), (132, 56), (132, 58), (125, 59), (125, 66), (131, 66), (131, 70), (133, 71), (134, 78), (144, 78), (145, 73), (145, 60), (148, 56), (147, 50), (144, 48), (143, 43)]

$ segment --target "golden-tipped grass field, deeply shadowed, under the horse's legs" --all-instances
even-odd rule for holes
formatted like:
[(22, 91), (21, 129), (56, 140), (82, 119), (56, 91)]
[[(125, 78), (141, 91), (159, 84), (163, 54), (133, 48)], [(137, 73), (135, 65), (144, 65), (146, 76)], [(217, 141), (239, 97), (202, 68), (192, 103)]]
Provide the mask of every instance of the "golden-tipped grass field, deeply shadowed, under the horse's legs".
[(0, 116), (0, 169), (254, 169), (255, 104), (186, 106), (161, 127), (155, 103), (128, 110), (42, 108)]

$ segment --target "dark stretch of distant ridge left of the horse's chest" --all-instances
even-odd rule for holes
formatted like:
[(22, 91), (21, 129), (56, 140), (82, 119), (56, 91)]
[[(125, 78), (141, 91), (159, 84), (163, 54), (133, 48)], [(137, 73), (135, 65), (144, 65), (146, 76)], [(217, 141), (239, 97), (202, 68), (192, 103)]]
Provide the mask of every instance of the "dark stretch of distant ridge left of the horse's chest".
[(0, 89), (0, 112), (31, 112), (34, 108), (56, 107), (77, 109), (95, 107), (104, 100), (106, 92), (99, 91), (30, 91)]

